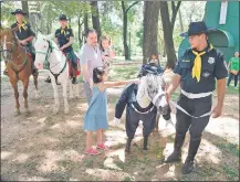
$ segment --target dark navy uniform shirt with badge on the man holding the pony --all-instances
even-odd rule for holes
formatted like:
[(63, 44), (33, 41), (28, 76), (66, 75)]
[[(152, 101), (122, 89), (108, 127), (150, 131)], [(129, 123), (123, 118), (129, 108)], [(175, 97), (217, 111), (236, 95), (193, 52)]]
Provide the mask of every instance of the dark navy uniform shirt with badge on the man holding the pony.
[(196, 55), (191, 49), (187, 50), (178, 60), (174, 72), (181, 76), (180, 87), (187, 93), (199, 94), (213, 92), (216, 88), (216, 78), (221, 79), (227, 77), (228, 71), (222, 53), (217, 49), (205, 50), (206, 54), (201, 55), (201, 75), (199, 83), (196, 77), (192, 78), (191, 71)]

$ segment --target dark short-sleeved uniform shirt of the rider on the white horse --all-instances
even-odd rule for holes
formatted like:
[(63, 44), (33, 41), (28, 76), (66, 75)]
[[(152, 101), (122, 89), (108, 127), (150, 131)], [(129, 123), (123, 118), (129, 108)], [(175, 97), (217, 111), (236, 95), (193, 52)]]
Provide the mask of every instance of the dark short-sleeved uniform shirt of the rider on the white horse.
[[(59, 42), (59, 45), (60, 47), (63, 46), (64, 44), (66, 44), (67, 42), (70, 42), (70, 36), (74, 36), (73, 35), (73, 30), (70, 29), (70, 28), (65, 28), (65, 34), (64, 33), (61, 33), (61, 28), (58, 29), (55, 31), (55, 38), (58, 39), (58, 42)], [(66, 49), (63, 50), (64, 53), (69, 53), (73, 51), (73, 47), (72, 45), (67, 46)]]

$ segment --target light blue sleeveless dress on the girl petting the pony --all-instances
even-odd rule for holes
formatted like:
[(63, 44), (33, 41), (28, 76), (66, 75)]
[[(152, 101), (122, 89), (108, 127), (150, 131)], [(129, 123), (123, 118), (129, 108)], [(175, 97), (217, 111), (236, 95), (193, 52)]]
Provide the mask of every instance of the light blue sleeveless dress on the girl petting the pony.
[(84, 130), (96, 131), (97, 129), (108, 129), (106, 108), (106, 89), (101, 92), (96, 86), (93, 86), (93, 97), (84, 116)]

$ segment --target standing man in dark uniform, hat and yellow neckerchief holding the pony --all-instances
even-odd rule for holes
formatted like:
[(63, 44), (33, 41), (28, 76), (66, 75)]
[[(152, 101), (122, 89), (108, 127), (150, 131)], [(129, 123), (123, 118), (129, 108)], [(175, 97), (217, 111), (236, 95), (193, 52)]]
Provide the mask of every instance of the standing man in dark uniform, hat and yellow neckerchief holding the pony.
[(194, 169), (194, 159), (201, 141), (201, 133), (211, 115), (211, 93), (216, 89), (216, 79), (218, 103), (212, 110), (213, 118), (221, 116), (223, 106), (228, 72), (223, 55), (208, 42), (207, 35), (210, 31), (213, 29), (207, 28), (205, 22), (191, 22), (188, 32), (181, 33), (181, 36), (189, 38), (191, 49), (178, 60), (176, 74), (167, 89), (169, 100), (170, 95), (180, 84), (181, 94), (177, 104), (186, 113), (177, 109), (174, 152), (165, 162), (180, 161), (181, 147), (189, 129), (190, 143), (182, 173), (189, 173)]

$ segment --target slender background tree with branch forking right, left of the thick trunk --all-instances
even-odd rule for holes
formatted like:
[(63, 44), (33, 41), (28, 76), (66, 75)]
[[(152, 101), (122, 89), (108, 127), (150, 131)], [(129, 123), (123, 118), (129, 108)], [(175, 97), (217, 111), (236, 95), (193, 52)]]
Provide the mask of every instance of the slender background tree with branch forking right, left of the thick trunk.
[(137, 4), (139, 1), (133, 2), (128, 8), (126, 8), (126, 2), (121, 1), (122, 11), (123, 11), (123, 44), (124, 44), (124, 55), (125, 60), (129, 60), (129, 50), (127, 45), (127, 12)]

